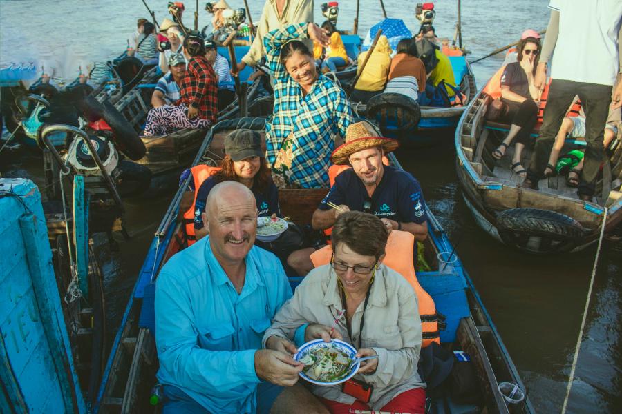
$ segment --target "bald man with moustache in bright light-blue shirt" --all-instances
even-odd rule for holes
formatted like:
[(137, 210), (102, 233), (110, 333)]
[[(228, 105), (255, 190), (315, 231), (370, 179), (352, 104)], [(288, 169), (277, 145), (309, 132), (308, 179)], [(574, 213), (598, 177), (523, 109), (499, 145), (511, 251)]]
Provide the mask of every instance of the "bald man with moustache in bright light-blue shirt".
[(279, 260), (253, 246), (253, 193), (225, 181), (209, 193), (207, 211), (209, 237), (171, 257), (156, 283), (162, 412), (326, 413), (296, 384), (303, 364), (294, 346), (261, 349), (292, 289)]

